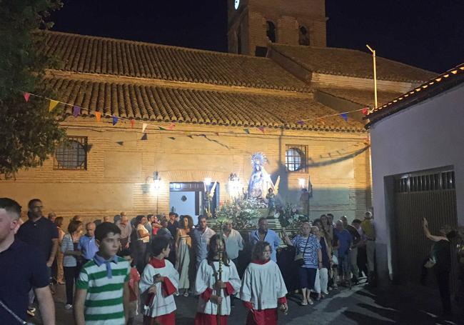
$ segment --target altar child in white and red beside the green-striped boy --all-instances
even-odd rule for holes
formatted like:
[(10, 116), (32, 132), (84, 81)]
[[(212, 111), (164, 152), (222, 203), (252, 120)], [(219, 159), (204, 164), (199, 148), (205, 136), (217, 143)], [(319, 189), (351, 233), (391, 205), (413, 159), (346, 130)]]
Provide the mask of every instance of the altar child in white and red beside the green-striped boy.
[(176, 302), (173, 294), (178, 289), (179, 274), (169, 256), (169, 240), (158, 236), (151, 243), (152, 257), (139, 284), (143, 306), (143, 325), (175, 325)]

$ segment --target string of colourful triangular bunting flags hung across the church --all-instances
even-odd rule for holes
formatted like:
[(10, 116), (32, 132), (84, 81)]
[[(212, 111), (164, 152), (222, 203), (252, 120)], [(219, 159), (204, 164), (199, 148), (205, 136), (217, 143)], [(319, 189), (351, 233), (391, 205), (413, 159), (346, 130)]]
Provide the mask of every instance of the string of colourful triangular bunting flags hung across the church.
[[(39, 97), (39, 98), (44, 98), (44, 99), (48, 99), (49, 100), (49, 112), (51, 111), (54, 111), (54, 109), (56, 109), (56, 106), (58, 106), (58, 104), (64, 104), (66, 106), (71, 106), (73, 109), (73, 116), (74, 117), (77, 117), (81, 114), (81, 111), (87, 111), (89, 112), (90, 109), (86, 109), (84, 107), (81, 107), (81, 106), (76, 106), (76, 105), (73, 105), (73, 104), (68, 104), (68, 103), (65, 103), (63, 101), (57, 101), (55, 99), (50, 99), (48, 97), (45, 97), (45, 96), (41, 96), (41, 95), (37, 95), (37, 94), (32, 94), (32, 93), (29, 93), (29, 92), (23, 92), (23, 96), (24, 96), (24, 100), (26, 102), (29, 102), (31, 96), (35, 96), (35, 97)], [(363, 109), (355, 109), (353, 111), (344, 111), (342, 113), (337, 113), (337, 114), (331, 114), (331, 115), (325, 115), (325, 116), (318, 116), (318, 117), (313, 117), (311, 119), (301, 119), (301, 120), (298, 120), (296, 122), (296, 124), (298, 125), (304, 125), (306, 124), (305, 122), (307, 121), (313, 121), (313, 120), (319, 120), (321, 121), (322, 124), (325, 124), (323, 119), (327, 118), (327, 117), (333, 117), (333, 116), (341, 116), (341, 118), (348, 122), (348, 114), (351, 114), (351, 113), (355, 113), (357, 111), (361, 111), (362, 114), (365, 116), (369, 113), (369, 109), (368, 107), (365, 107)], [(94, 112), (94, 115), (95, 115), (95, 120), (97, 122), (101, 122), (101, 112), (99, 111), (95, 111)], [(113, 124), (113, 126), (115, 126), (116, 124), (118, 124), (118, 121), (119, 120), (127, 120), (129, 121), (129, 123), (131, 124), (131, 129), (134, 128), (135, 124), (136, 124), (136, 120), (135, 119), (129, 119), (129, 118), (126, 118), (126, 117), (121, 117), (121, 116), (114, 116), (114, 115), (110, 115), (111, 116), (111, 123)], [(284, 124), (280, 124), (280, 126), (284, 126), (286, 125), (287, 123), (284, 123)], [(175, 123), (171, 123), (169, 126), (167, 127), (163, 127), (163, 126), (158, 126), (158, 125), (155, 125), (155, 124), (148, 124), (148, 123), (145, 123), (145, 122), (141, 122), (141, 130), (142, 130), (142, 133), (143, 133), (143, 136), (141, 137), (141, 140), (148, 140), (148, 134), (146, 133), (146, 129), (148, 128), (148, 126), (154, 126), (155, 128), (157, 128), (158, 130), (160, 131), (173, 131), (173, 129), (176, 127), (176, 124)], [(266, 126), (258, 126), (256, 129), (258, 129), (258, 131), (260, 131), (262, 134), (266, 134)], [(243, 129), (243, 132), (246, 133), (246, 134), (251, 134), (251, 129)], [(217, 134), (219, 135), (219, 134)], [(186, 135), (187, 137), (193, 139), (194, 136), (199, 136), (199, 137), (203, 137), (204, 139), (208, 140), (208, 141), (213, 141), (213, 142), (216, 142), (217, 144), (221, 145), (221, 146), (224, 146), (226, 147), (227, 149), (229, 149), (229, 146), (227, 146), (226, 144), (221, 144), (220, 141), (217, 141), (215, 139), (211, 139), (211, 138), (208, 138), (208, 136), (206, 136), (206, 134), (189, 134), (189, 135)], [(177, 138), (179, 137), (183, 137), (183, 136), (177, 136), (177, 137), (174, 137), (174, 136), (170, 136), (169, 139), (171, 140), (176, 140)], [(118, 141), (119, 142), (122, 142), (122, 141)], [(121, 144), (122, 145), (122, 144)]]

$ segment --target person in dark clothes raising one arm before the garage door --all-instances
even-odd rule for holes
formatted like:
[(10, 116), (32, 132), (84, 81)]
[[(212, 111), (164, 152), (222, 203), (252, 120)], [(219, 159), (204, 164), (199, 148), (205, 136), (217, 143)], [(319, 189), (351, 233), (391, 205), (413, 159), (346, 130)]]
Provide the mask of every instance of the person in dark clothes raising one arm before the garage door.
[(451, 269), (451, 242), (450, 238), (455, 235), (455, 231), (448, 225), (440, 227), (440, 234), (435, 236), (428, 230), (427, 219), (423, 219), (423, 231), (425, 236), (433, 241), (430, 260), (433, 262), (433, 269), (437, 278), (438, 290), (440, 291), (443, 314), (451, 312), (450, 299), (450, 269)]

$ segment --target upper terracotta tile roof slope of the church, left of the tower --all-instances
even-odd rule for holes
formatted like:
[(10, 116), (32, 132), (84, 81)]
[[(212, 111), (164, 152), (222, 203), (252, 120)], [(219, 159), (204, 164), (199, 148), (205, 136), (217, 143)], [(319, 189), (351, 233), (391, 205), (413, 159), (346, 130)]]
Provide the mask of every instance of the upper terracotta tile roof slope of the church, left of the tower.
[(56, 31), (41, 33), (45, 35), (41, 51), (63, 61), (64, 71), (308, 91), (303, 81), (268, 58)]

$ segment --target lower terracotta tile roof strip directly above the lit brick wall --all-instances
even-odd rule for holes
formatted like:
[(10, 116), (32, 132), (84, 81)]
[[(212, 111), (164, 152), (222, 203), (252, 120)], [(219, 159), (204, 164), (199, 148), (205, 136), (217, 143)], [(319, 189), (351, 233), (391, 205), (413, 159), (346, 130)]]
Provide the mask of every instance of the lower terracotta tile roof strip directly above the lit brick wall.
[[(225, 126), (266, 126), (286, 129), (364, 131), (358, 121), (331, 116), (320, 121), (318, 116), (337, 114), (311, 96), (291, 97), (268, 94), (248, 94), (208, 91), (133, 83), (78, 80), (62, 76), (47, 76), (46, 82), (64, 103), (81, 106), (82, 116), (121, 116), (151, 121), (176, 121), (191, 124)], [(66, 106), (66, 115), (72, 107)], [(303, 126), (296, 122), (306, 121)]]

